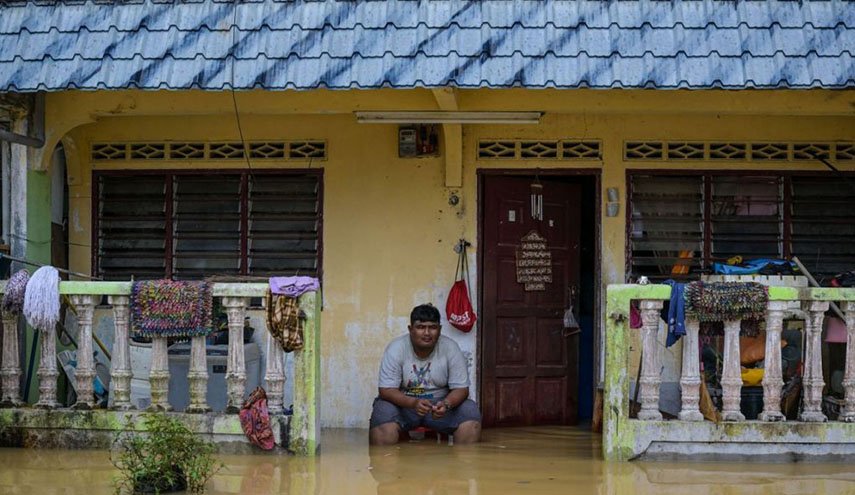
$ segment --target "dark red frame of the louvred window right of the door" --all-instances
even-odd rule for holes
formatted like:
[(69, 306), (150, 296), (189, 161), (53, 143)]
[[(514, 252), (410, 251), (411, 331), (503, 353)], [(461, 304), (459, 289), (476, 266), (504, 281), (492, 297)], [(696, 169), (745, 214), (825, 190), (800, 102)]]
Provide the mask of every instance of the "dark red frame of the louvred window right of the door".
[[(656, 169), (656, 168), (627, 168), (625, 174), (626, 184), (626, 218), (625, 218), (625, 266), (624, 279), (629, 281), (633, 276), (632, 270), (632, 179), (634, 175), (650, 175), (650, 176), (693, 176), (702, 177), (703, 186), (703, 229), (701, 237), (701, 268), (706, 270), (711, 264), (717, 260), (712, 259), (712, 177), (713, 176), (730, 176), (730, 177), (751, 177), (751, 176), (767, 176), (775, 177), (781, 180), (781, 255), (785, 259), (790, 259), (792, 256), (792, 239), (793, 239), (793, 219), (792, 219), (792, 181), (794, 177), (812, 177), (812, 178), (828, 178), (833, 180), (836, 175), (842, 175), (849, 180), (855, 181), (855, 171), (838, 172), (826, 171), (810, 171), (810, 170), (775, 170), (775, 169), (743, 169), (743, 170), (717, 170), (717, 169)], [(841, 187), (847, 187), (841, 185)], [(855, 197), (855, 195), (853, 195)]]

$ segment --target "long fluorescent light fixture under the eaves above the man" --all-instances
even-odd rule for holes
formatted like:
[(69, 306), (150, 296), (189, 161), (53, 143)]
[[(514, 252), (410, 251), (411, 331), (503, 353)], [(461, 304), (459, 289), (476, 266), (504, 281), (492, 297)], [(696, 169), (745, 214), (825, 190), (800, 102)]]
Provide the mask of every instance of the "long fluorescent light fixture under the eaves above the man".
[(354, 112), (360, 124), (539, 124), (543, 112)]

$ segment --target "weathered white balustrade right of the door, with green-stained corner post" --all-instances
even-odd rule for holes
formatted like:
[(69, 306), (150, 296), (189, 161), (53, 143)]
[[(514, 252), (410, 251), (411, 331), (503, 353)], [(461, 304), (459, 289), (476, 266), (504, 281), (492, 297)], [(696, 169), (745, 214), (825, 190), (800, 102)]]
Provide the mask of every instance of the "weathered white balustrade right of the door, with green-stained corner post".
[[(736, 446), (774, 444), (769, 451), (811, 454), (829, 451), (855, 454), (855, 289), (769, 287), (766, 314), (765, 369), (762, 380), (763, 411), (757, 421), (740, 412), (740, 321), (725, 321), (721, 373), (722, 423), (704, 421), (699, 408), (703, 380), (698, 357), (697, 321), (687, 319), (682, 343), (681, 407), (677, 419), (663, 420), (659, 410), (662, 383), (662, 346), (658, 339), (660, 310), (670, 297), (667, 285), (610, 285), (606, 304), (606, 362), (603, 451), (606, 459), (628, 460), (655, 447), (659, 452), (733, 453)], [(639, 301), (642, 328), (641, 367), (637, 391), (640, 410), (630, 419), (630, 363), (632, 336), (630, 302)], [(831, 301), (841, 303), (847, 328), (843, 388), (844, 405), (836, 421), (822, 411), (821, 334)], [(801, 412), (786, 421), (781, 410), (784, 386), (781, 367), (781, 332), (785, 318), (804, 320), (804, 371)], [(741, 425), (736, 428), (733, 425)], [(683, 447), (680, 447), (682, 444)], [(811, 451), (810, 449), (813, 448)], [(788, 450), (789, 449), (789, 450)], [(832, 449), (832, 450), (834, 450)], [(842, 449), (842, 450), (841, 450)], [(758, 448), (758, 452), (763, 451)]]

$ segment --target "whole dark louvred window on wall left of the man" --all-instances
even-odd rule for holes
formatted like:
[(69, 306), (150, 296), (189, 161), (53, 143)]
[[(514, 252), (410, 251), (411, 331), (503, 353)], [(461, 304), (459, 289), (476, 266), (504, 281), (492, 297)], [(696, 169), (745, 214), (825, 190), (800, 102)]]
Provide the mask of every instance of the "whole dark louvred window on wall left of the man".
[(321, 174), (96, 172), (93, 266), (110, 280), (320, 273)]

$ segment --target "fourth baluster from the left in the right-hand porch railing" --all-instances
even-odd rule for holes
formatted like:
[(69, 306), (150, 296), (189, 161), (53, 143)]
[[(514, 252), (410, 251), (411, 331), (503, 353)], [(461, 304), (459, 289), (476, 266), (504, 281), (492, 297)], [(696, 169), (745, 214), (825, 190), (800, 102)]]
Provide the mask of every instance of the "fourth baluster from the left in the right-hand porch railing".
[(781, 412), (781, 390), (784, 387), (781, 372), (781, 331), (787, 301), (769, 301), (766, 305), (766, 356), (763, 360), (763, 412), (761, 421), (785, 421)]

